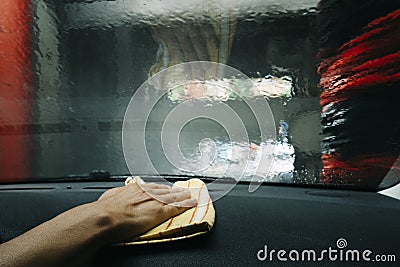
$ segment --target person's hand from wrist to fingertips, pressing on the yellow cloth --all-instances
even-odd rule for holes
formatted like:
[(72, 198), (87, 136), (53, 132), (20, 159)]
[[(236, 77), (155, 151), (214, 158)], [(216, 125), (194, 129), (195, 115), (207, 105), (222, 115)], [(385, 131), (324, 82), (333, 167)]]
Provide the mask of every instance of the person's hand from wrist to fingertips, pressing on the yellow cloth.
[(190, 191), (179, 187), (130, 183), (110, 189), (93, 203), (101, 210), (103, 222), (111, 225), (107, 242), (139, 236), (197, 205)]

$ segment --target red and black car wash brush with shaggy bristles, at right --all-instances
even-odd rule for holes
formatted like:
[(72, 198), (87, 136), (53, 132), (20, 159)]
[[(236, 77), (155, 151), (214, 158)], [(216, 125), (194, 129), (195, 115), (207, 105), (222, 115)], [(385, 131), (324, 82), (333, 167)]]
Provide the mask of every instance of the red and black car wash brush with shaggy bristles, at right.
[[(320, 2), (324, 183), (372, 190), (399, 171), (398, 8), (397, 1)], [(347, 30), (354, 25), (363, 26)]]

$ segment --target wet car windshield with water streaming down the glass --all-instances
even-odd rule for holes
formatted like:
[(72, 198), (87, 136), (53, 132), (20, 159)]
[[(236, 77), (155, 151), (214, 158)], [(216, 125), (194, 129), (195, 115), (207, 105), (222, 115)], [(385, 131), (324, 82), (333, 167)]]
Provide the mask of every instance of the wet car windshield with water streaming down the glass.
[[(268, 158), (258, 173), (265, 182), (391, 186), (400, 179), (399, 8), (356, 0), (2, 0), (0, 182), (92, 170), (146, 175), (145, 157), (162, 175), (214, 178), (246, 161), (240, 178), (249, 181)], [(267, 101), (274, 133), (261, 138), (240, 97), (183, 86), (143, 117), (147, 155), (136, 153), (128, 169), (122, 129), (132, 96), (160, 71), (193, 61), (246, 75), (257, 93), (243, 94)], [(223, 123), (190, 120), (175, 145), (189, 161), (210, 153), (196, 172), (169, 161), (161, 136), (168, 114), (188, 99), (234, 108), (247, 136), (232, 140)]]

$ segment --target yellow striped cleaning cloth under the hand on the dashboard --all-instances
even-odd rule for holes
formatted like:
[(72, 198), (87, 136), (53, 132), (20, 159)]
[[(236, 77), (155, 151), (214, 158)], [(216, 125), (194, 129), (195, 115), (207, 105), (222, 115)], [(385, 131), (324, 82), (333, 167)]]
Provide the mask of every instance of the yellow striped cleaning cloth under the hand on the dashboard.
[[(135, 177), (133, 179), (128, 178), (125, 183), (135, 181), (142, 182), (140, 178)], [(200, 179), (190, 179), (178, 181), (173, 186), (188, 188), (192, 197), (197, 199), (198, 205), (170, 218), (130, 242), (121, 243), (121, 245), (174, 241), (205, 234), (211, 230), (215, 221), (215, 210), (206, 184)]]

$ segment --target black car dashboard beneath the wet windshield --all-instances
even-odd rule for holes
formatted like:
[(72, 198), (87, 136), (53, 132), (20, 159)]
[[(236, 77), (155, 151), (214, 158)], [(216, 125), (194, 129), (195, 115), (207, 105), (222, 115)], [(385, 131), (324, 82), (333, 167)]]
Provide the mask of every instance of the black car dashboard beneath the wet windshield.
[[(121, 182), (1, 185), (0, 240), (5, 242), (69, 208), (94, 201), (106, 189), (120, 185)], [(278, 250), (286, 250), (286, 258), (291, 250), (320, 252), (331, 247), (339, 251), (337, 242), (342, 239), (346, 242), (342, 250), (368, 249), (372, 251), (371, 259), (377, 254), (394, 255), (395, 261), (385, 262), (384, 266), (399, 266), (399, 204), (399, 200), (373, 192), (263, 185), (249, 193), (248, 185), (238, 184), (214, 203), (216, 222), (209, 234), (164, 244), (110, 246), (96, 255), (92, 265), (312, 266), (333, 263), (360, 266), (372, 263), (340, 258), (331, 261), (327, 257), (318, 263), (307, 259), (280, 261), (276, 255)], [(268, 257), (263, 259), (265, 248), (268, 253), (276, 250), (272, 261)]]

